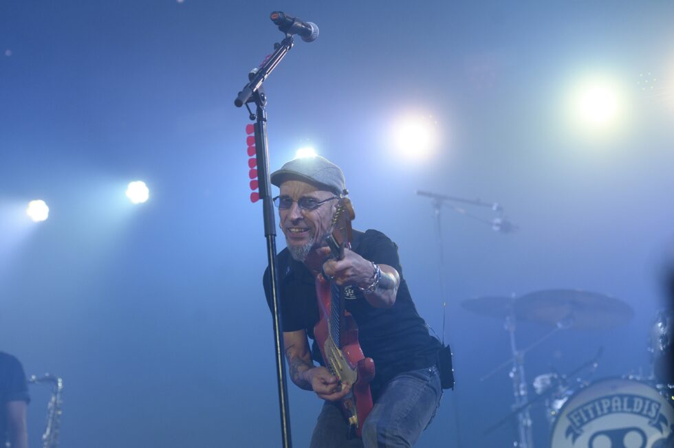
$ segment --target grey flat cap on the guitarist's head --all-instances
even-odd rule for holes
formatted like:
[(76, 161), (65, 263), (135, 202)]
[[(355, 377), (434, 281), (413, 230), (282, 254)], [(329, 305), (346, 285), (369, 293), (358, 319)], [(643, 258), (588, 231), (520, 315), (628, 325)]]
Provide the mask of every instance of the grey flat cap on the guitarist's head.
[(317, 188), (335, 194), (346, 194), (344, 173), (338, 166), (320, 155), (293, 159), (281, 166), (280, 170), (272, 172), (270, 179), (277, 187), (285, 181), (297, 180), (311, 183)]

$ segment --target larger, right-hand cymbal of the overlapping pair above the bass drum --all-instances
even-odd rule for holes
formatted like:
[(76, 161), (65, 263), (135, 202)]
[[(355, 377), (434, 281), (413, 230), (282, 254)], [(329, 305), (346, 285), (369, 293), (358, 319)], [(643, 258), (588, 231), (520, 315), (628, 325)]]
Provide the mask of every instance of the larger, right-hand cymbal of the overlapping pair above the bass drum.
[(520, 320), (572, 328), (605, 329), (627, 324), (634, 316), (628, 304), (600, 293), (577, 289), (548, 289), (518, 298)]

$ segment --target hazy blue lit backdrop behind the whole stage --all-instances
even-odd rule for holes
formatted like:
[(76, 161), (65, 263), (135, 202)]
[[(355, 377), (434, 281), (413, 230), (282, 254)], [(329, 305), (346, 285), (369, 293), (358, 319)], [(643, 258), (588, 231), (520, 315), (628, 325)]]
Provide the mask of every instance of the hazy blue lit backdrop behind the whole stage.
[[(635, 309), (630, 324), (552, 337), (528, 356), (530, 379), (600, 346), (596, 378), (647, 372), (673, 238), (673, 3), (3, 1), (0, 350), (65, 379), (64, 447), (280, 446), (261, 207), (248, 201), (247, 114), (232, 104), (281, 37), (274, 9), (320, 37), (298, 41), (265, 84), (272, 169), (306, 144), (340, 164), (354, 224), (400, 245), (438, 332), (447, 302), (457, 392), (419, 447), (457, 447), (457, 421), (464, 447), (512, 446), (512, 427), (482, 434), (510, 410), (507, 372), (479, 381), (508, 358), (507, 334), (465, 298), (613, 295)], [(628, 91), (622, 134), (600, 144), (562, 113), (593, 70)], [(655, 93), (636, 84), (647, 72)], [(391, 155), (391, 122), (409, 109), (442, 128), (432, 161)], [(135, 179), (151, 190), (144, 205), (124, 198)], [(444, 210), (442, 298), (431, 203), (415, 190), (499, 201), (521, 229)], [(50, 219), (21, 221), (36, 198)], [(547, 330), (521, 324), (519, 341)], [(32, 392), (39, 446), (48, 393)], [(296, 446), (319, 406), (290, 385)]]

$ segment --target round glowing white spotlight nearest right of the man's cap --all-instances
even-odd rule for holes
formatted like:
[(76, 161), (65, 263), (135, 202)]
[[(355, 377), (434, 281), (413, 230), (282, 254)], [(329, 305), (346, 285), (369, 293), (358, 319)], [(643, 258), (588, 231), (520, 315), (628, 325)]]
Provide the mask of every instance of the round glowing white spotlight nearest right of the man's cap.
[(437, 122), (430, 115), (411, 115), (395, 124), (392, 144), (408, 159), (426, 159), (437, 146)]

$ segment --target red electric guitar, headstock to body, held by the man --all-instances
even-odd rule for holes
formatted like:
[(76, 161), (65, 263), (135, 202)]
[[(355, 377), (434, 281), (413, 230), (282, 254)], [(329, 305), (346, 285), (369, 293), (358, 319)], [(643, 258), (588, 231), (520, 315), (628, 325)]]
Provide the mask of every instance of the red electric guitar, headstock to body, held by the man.
[[(334, 230), (326, 238), (335, 258), (344, 257), (344, 248), (351, 241), (351, 220), (355, 217), (351, 201), (347, 198), (340, 199), (332, 220)], [(342, 385), (351, 386), (351, 392), (340, 404), (350, 427), (360, 437), (365, 418), (372, 410), (370, 381), (374, 378), (374, 361), (366, 358), (360, 349), (358, 326), (344, 306), (344, 289), (345, 287), (324, 278), (323, 274), (316, 277), (320, 320), (314, 326), (314, 335), (325, 366)]]

